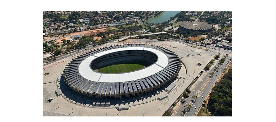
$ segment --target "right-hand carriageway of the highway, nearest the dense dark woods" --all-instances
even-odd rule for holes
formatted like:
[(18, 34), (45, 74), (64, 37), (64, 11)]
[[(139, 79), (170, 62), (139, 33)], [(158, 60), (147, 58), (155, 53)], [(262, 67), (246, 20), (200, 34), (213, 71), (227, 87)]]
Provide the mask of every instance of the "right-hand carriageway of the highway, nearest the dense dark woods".
[[(211, 78), (211, 80), (207, 83), (207, 85), (204, 87), (204, 89), (202, 90), (202, 92), (198, 93), (198, 98), (196, 99), (196, 102), (193, 103), (191, 106), (195, 105), (194, 107), (192, 107), (190, 109), (189, 112), (187, 112), (185, 114), (185, 116), (196, 116), (196, 112), (198, 111), (198, 109), (200, 108), (200, 106), (202, 105), (203, 100), (206, 98), (206, 96), (209, 94), (210, 90), (213, 88), (213, 86), (215, 85), (215, 83), (217, 82), (220, 74), (223, 72), (224, 68), (226, 67), (227, 61), (230, 61), (231, 57), (226, 57), (225, 58), (225, 62), (223, 65), (219, 65), (219, 71), (214, 73), (213, 78)], [(193, 96), (193, 95), (190, 95)], [(203, 96), (203, 97), (202, 97)], [(189, 102), (189, 101), (187, 101)], [(197, 108), (195, 108), (197, 107)]]

